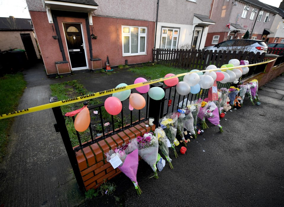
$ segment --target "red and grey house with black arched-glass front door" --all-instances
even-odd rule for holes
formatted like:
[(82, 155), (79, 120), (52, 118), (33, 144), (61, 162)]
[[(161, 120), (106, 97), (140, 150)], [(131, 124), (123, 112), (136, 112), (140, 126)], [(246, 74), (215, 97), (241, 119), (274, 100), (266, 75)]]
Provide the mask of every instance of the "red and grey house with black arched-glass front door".
[(156, 1), (27, 0), (49, 76), (152, 60)]

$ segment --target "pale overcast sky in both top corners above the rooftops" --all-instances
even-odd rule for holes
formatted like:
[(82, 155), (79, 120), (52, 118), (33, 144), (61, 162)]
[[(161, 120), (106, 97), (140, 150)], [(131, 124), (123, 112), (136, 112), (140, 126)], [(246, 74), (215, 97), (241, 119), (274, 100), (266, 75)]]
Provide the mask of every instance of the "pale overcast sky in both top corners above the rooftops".
[[(274, 7), (279, 7), (282, 0), (260, 1)], [(31, 18), (25, 0), (0, 0), (0, 17), (9, 16), (14, 16), (16, 18)]]

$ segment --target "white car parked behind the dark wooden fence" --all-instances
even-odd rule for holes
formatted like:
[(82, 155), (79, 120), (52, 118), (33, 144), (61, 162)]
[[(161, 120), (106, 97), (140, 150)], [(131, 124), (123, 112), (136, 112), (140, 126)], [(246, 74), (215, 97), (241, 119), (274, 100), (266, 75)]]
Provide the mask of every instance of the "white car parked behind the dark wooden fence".
[(214, 46), (204, 47), (203, 50), (220, 50), (223, 51), (248, 51), (248, 52), (267, 52), (267, 44), (265, 44), (264, 40), (253, 40), (253, 39), (231, 39), (221, 43), (218, 43)]

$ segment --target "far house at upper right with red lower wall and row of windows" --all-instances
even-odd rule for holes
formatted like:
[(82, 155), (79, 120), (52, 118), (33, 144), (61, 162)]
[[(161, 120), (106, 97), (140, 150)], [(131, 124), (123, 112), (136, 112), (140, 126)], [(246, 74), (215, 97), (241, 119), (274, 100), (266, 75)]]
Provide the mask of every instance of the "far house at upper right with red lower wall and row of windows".
[(258, 0), (214, 0), (206, 46), (228, 39), (242, 38), (249, 31), (251, 39), (264, 40), (272, 34), (271, 26), (278, 12)]

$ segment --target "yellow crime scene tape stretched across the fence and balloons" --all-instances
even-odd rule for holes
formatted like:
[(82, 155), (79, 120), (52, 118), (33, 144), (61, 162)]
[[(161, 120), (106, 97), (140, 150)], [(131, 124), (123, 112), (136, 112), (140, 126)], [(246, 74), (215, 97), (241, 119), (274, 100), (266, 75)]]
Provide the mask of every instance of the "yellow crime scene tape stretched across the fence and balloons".
[(242, 67), (251, 67), (251, 66), (255, 66), (255, 65), (266, 64), (266, 63), (272, 62), (276, 59), (277, 58), (275, 58), (273, 60), (261, 62), (261, 63), (255, 63), (255, 64), (250, 64), (250, 65), (239, 65), (239, 66), (230, 67), (230, 68), (221, 68), (221, 69), (217, 68), (217, 69), (211, 69), (211, 70), (200, 70), (200, 71), (194, 71), (194, 72), (181, 73), (181, 74), (169, 76), (169, 77), (166, 77), (166, 78), (158, 78), (158, 79), (155, 79), (155, 80), (145, 81), (145, 82), (142, 82), (142, 83), (132, 84), (132, 85), (128, 85), (128, 86), (122, 86), (122, 87), (118, 87), (118, 88), (114, 88), (114, 89), (108, 89), (108, 90), (105, 90), (105, 91), (100, 91), (100, 92), (87, 94), (87, 95), (83, 95), (83, 96), (79, 96), (79, 97), (75, 97), (75, 98), (69, 98), (69, 99), (62, 100), (62, 101), (57, 101), (57, 102), (48, 103), (48, 104), (44, 104), (44, 105), (40, 105), (40, 106), (35, 106), (35, 107), (31, 107), (31, 108), (27, 108), (27, 109), (23, 109), (23, 110), (19, 110), (19, 111), (14, 111), (14, 112), (11, 112), (11, 113), (2, 114), (2, 115), (0, 115), (0, 119), (10, 118), (10, 117), (13, 117), (13, 116), (23, 115), (23, 114), (27, 114), (27, 113), (36, 112), (36, 111), (41, 111), (41, 110), (45, 110), (45, 109), (49, 109), (49, 108), (53, 108), (53, 107), (68, 105), (68, 104), (71, 104), (71, 103), (86, 101), (86, 100), (90, 100), (90, 99), (93, 99), (93, 98), (98, 98), (98, 97), (110, 95), (110, 94), (113, 94), (113, 93), (116, 93), (116, 92), (126, 91), (126, 90), (129, 90), (129, 89), (134, 89), (134, 88), (138, 88), (138, 87), (141, 87), (141, 86), (150, 85), (150, 84), (153, 84), (153, 83), (158, 83), (160, 81), (165, 81), (165, 80), (169, 80), (169, 79), (172, 79), (172, 78), (185, 76), (186, 74), (190, 74), (190, 73), (208, 72), (208, 71), (216, 71), (216, 70), (228, 70), (228, 69), (242, 68)]

